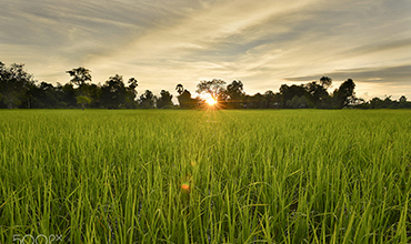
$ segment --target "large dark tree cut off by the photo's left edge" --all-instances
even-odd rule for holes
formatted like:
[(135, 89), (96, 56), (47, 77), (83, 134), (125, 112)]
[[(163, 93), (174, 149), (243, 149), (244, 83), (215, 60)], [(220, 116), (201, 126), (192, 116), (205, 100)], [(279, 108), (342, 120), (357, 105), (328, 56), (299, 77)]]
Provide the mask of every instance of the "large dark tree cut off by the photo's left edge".
[(0, 101), (3, 101), (8, 109), (21, 104), (31, 84), (34, 84), (34, 80), (24, 70), (24, 64), (13, 63), (7, 68), (0, 62)]

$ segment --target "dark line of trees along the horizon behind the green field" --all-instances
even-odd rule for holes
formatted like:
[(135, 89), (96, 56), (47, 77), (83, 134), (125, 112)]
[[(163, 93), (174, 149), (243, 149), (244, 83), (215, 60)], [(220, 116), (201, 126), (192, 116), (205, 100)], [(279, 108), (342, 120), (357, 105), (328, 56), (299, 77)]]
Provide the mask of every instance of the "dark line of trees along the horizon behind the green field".
[(403, 109), (411, 108), (411, 102), (402, 95), (399, 101), (387, 96), (370, 101), (355, 96), (355, 83), (348, 79), (341, 85), (328, 92), (332, 79), (322, 77), (318, 81), (304, 84), (282, 84), (279, 92), (271, 90), (263, 94), (245, 94), (241, 81), (227, 84), (222, 80), (200, 81), (196, 92), (202, 94), (192, 98), (182, 84), (177, 84), (179, 105), (172, 103), (173, 95), (166, 90), (154, 95), (146, 90), (138, 95), (138, 81), (122, 75), (110, 77), (102, 85), (91, 82), (90, 70), (79, 67), (67, 71), (70, 81), (56, 87), (47, 82), (37, 82), (27, 73), (23, 64), (9, 68), (0, 62), (0, 108), (2, 109), (198, 109), (207, 106), (204, 94), (217, 101), (219, 109)]

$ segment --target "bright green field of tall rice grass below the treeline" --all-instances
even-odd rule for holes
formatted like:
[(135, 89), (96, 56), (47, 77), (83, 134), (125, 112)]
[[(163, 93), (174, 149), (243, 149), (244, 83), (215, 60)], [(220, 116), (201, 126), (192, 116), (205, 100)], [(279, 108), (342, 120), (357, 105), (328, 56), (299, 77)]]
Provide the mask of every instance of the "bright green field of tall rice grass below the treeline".
[(0, 111), (1, 244), (408, 243), (410, 200), (411, 111)]

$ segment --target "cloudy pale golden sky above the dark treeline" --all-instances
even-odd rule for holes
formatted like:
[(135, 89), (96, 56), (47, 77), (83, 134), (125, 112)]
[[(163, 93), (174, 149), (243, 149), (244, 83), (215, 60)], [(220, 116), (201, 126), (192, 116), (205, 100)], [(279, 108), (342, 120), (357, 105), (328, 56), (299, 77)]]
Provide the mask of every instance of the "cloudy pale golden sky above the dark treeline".
[(138, 92), (240, 80), (248, 94), (323, 75), (330, 92), (411, 100), (411, 0), (1, 0), (0, 61), (41, 82), (136, 78)]

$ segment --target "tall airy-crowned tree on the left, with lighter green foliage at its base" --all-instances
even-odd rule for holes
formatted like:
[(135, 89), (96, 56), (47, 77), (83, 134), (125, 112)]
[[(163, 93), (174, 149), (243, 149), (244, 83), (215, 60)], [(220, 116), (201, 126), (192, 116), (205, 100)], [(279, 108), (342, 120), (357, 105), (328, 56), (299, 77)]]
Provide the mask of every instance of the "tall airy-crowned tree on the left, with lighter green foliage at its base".
[(88, 81), (91, 81), (90, 72), (90, 70), (83, 67), (66, 71), (71, 77), (70, 82), (78, 85), (77, 103), (81, 104), (82, 110), (84, 110), (86, 104), (91, 102), (86, 89)]

